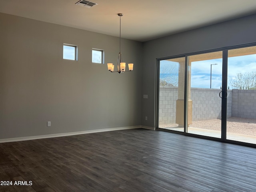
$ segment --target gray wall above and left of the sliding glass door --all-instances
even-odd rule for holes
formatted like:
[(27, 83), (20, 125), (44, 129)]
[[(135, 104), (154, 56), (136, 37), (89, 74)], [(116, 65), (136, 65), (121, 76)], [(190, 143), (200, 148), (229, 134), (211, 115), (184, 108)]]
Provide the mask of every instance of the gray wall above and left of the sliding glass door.
[(256, 14), (144, 42), (142, 125), (156, 125), (156, 58), (256, 42), (255, 23)]

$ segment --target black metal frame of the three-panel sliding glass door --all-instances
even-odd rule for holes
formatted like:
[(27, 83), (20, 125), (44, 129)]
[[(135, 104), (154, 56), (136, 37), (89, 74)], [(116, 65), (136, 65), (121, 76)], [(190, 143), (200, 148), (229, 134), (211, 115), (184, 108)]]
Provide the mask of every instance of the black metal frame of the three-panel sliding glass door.
[[(248, 43), (248, 44), (241, 44), (236, 46), (228, 46), (224, 48), (217, 48), (217, 49), (211, 49), (211, 50), (204, 50), (199, 52), (192, 52), (189, 54), (181, 54), (181, 55), (175, 55), (175, 56), (166, 56), (162, 58), (156, 59), (156, 130), (163, 130), (168, 131), (172, 133), (178, 133), (178, 134), (184, 134), (186, 136), (192, 136), (196, 138), (203, 138), (208, 140), (215, 140), (219, 142), (226, 142), (231, 144), (238, 144), (243, 146), (249, 146), (256, 148), (256, 144), (251, 143), (245, 143), (245, 142), (239, 142), (234, 140), (227, 140), (227, 132), (226, 132), (226, 125), (227, 125), (227, 85), (228, 85), (228, 50), (236, 49), (236, 48), (245, 48), (250, 46), (256, 46), (256, 42)], [(196, 54), (205, 54), (205, 53), (211, 53), (211, 52), (217, 52), (222, 51), (222, 122), (221, 122), (221, 138), (214, 138), (210, 136), (202, 136), (202, 135), (196, 135), (192, 133), (188, 133), (188, 58), (189, 56), (196, 55)], [(179, 132), (175, 130), (167, 130), (164, 128), (159, 128), (159, 85), (160, 85), (160, 61), (161, 60), (167, 60), (167, 59), (173, 59), (178, 57), (185, 57), (185, 79), (184, 79), (184, 132)]]

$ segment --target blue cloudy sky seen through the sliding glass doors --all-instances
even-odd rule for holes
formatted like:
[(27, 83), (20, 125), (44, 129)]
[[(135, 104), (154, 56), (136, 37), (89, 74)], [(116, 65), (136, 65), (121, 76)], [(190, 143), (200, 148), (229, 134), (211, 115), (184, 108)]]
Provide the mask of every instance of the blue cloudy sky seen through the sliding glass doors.
[[(191, 63), (191, 87), (210, 88), (210, 71), (212, 65), (212, 88), (220, 89), (222, 86), (222, 59), (204, 60)], [(160, 78), (166, 76), (164, 71), (175, 71), (178, 76), (178, 62), (160, 61)], [(238, 73), (256, 71), (256, 54), (228, 58), (228, 86), (230, 79)], [(165, 73), (165, 72), (164, 72)]]

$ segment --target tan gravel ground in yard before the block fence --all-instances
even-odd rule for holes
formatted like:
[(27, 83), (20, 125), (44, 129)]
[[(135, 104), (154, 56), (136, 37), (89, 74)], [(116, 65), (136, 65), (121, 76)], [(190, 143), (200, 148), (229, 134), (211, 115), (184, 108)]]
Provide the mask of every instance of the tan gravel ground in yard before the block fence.
[[(177, 124), (161, 125), (161, 128), (174, 127)], [(190, 127), (221, 130), (221, 120), (213, 119), (206, 121), (193, 122)], [(256, 119), (244, 119), (238, 117), (231, 117), (227, 119), (227, 132), (256, 136)]]

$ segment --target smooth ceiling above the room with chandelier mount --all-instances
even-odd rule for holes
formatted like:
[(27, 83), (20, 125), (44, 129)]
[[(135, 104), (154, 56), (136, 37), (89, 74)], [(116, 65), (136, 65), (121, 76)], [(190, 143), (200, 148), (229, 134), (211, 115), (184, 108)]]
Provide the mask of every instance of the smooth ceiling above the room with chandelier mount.
[(0, 12), (144, 42), (256, 13), (256, 0), (0, 0)]

